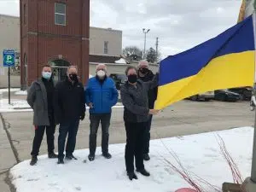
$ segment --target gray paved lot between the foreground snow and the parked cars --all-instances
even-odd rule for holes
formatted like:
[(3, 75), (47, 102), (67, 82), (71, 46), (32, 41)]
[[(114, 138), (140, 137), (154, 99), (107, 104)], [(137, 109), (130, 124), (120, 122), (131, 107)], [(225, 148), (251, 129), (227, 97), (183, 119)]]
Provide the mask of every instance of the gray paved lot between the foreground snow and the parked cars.
[[(125, 143), (123, 108), (114, 108), (110, 128), (110, 143)], [(77, 148), (88, 148), (89, 120), (87, 117), (79, 126)], [(18, 160), (30, 158), (34, 130), (32, 113), (2, 113), (5, 128), (9, 132)], [(175, 137), (206, 131), (225, 130), (239, 126), (252, 126), (254, 113), (248, 102), (177, 102), (154, 117), (151, 135), (153, 139)], [(58, 128), (56, 134), (58, 136)], [(98, 144), (101, 144), (99, 130)], [(46, 143), (41, 154), (45, 154)], [(2, 154), (2, 153), (1, 153)], [(2, 158), (1, 158), (2, 159)]]

